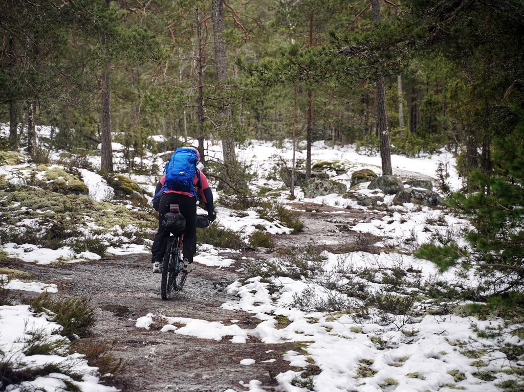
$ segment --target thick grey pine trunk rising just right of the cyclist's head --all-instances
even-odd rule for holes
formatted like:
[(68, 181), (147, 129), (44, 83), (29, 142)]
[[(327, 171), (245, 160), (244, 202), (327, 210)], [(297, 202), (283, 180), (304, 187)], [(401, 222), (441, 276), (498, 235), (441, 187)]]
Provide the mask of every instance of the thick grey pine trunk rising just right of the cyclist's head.
[[(213, 39), (215, 40), (215, 69), (216, 79), (221, 83), (227, 80), (227, 55), (226, 40), (224, 36), (224, 7), (222, 0), (212, 0), (211, 19), (213, 20)], [(231, 109), (222, 102), (221, 109), (221, 126), (222, 131), (222, 153), (224, 155), (224, 164), (236, 163), (235, 144), (232, 136)]]

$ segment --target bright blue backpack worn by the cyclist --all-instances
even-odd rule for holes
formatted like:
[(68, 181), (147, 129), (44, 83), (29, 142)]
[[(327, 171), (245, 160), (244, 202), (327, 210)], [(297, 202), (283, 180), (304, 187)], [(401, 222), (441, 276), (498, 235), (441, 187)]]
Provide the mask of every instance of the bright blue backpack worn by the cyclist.
[(192, 148), (180, 147), (171, 155), (171, 159), (166, 164), (164, 173), (166, 174), (166, 182), (152, 199), (152, 203), (169, 189), (170, 191), (181, 191), (193, 194), (198, 198), (196, 189), (193, 184), (193, 179), (196, 173), (200, 181), (200, 172), (196, 169), (198, 163), (198, 155)]

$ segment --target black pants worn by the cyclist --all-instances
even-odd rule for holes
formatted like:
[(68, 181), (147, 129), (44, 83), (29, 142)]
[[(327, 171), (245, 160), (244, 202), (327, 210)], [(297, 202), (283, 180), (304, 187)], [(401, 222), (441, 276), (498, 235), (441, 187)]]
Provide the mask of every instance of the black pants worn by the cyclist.
[(169, 238), (169, 231), (163, 228), (163, 214), (169, 212), (170, 204), (178, 204), (180, 214), (185, 218), (184, 233), (184, 259), (193, 262), (193, 254), (196, 252), (196, 200), (194, 197), (180, 195), (178, 193), (166, 193), (160, 199), (160, 208), (158, 210), (158, 232), (155, 234), (153, 246), (151, 249), (152, 261), (163, 260), (166, 250), (166, 240)]

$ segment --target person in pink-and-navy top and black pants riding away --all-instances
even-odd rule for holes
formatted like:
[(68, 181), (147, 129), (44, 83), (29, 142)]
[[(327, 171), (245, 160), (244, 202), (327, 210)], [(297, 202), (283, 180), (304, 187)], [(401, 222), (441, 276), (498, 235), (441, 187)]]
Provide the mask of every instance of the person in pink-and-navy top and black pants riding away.
[[(194, 150), (196, 150), (193, 147)], [(196, 155), (200, 160), (200, 154), (196, 150)], [(213, 206), (213, 194), (209, 187), (208, 179), (204, 173), (200, 172), (200, 179), (194, 175), (193, 184), (204, 201), (205, 209), (208, 211), (208, 220), (210, 222), (216, 219), (215, 209)], [(164, 182), (166, 181), (166, 174), (162, 176), (155, 189), (155, 195), (160, 192)], [(155, 234), (155, 239), (151, 248), (151, 262), (153, 263), (153, 272), (160, 273), (160, 264), (163, 260), (163, 255), (166, 250), (166, 240), (169, 238), (169, 231), (162, 226), (162, 219), (166, 212), (169, 212), (170, 204), (178, 204), (180, 207), (180, 214), (186, 220), (185, 233), (183, 242), (183, 256), (184, 256), (184, 270), (191, 272), (193, 269), (193, 254), (196, 252), (196, 200), (193, 194), (182, 191), (171, 191), (166, 189), (162, 192), (162, 196), (153, 204), (155, 210), (158, 211), (158, 232)]]

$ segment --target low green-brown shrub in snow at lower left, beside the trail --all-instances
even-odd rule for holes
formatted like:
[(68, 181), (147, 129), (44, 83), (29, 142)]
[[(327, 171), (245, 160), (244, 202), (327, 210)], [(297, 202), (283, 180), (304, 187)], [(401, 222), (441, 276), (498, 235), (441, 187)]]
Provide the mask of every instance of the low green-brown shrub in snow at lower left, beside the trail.
[(35, 312), (47, 313), (51, 321), (62, 326), (60, 333), (71, 340), (88, 336), (96, 323), (95, 308), (85, 296), (52, 300), (48, 293), (42, 293), (29, 305)]

